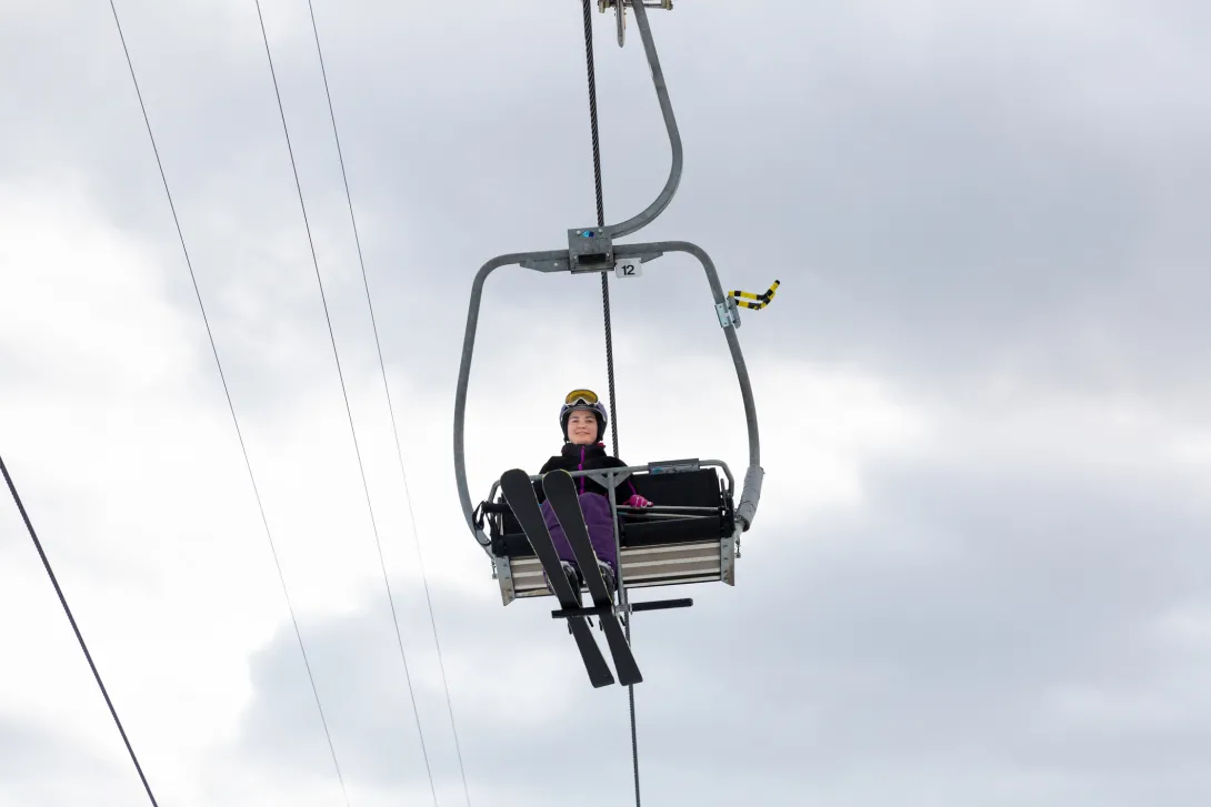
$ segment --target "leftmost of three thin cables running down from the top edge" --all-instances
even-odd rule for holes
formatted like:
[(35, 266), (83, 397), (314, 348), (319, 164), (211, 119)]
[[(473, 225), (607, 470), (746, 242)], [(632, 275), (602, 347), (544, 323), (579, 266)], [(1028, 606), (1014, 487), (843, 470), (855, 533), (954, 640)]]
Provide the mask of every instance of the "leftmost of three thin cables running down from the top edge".
[[(195, 294), (195, 296), (197, 299), (197, 307), (199, 307), (199, 310), (202, 313), (202, 323), (206, 327), (206, 335), (207, 335), (207, 338), (210, 340), (210, 344), (211, 344), (211, 352), (214, 356), (214, 365), (218, 368), (219, 380), (223, 384), (223, 393), (226, 397), (228, 409), (231, 413), (231, 422), (235, 425), (236, 438), (239, 439), (239, 443), (240, 443), (240, 451), (243, 454), (243, 462), (245, 462), (245, 467), (248, 471), (248, 479), (252, 483), (252, 491), (253, 491), (253, 497), (257, 501), (257, 509), (260, 512), (260, 520), (262, 520), (262, 524), (265, 528), (265, 538), (269, 542), (269, 551), (270, 551), (270, 554), (274, 558), (274, 566), (277, 569), (277, 580), (281, 583), (282, 595), (283, 595), (283, 598), (286, 600), (286, 607), (287, 607), (287, 610), (289, 611), (289, 615), (291, 615), (291, 623), (294, 627), (294, 636), (295, 636), (295, 639), (298, 640), (298, 644), (299, 644), (299, 652), (300, 652), (300, 655), (303, 657), (303, 665), (304, 665), (304, 668), (306, 670), (308, 680), (311, 684), (311, 694), (315, 697), (316, 710), (320, 713), (320, 724), (323, 727), (323, 734), (325, 734), (325, 738), (327, 739), (327, 743), (328, 743), (328, 753), (332, 756), (332, 765), (333, 765), (333, 768), (337, 772), (337, 780), (340, 784), (340, 791), (342, 791), (342, 795), (344, 796), (345, 805), (348, 807), (350, 805), (350, 801), (349, 801), (349, 791), (348, 791), (348, 789), (345, 786), (345, 777), (344, 777), (344, 774), (340, 771), (340, 762), (339, 762), (339, 760), (337, 757), (337, 748), (335, 748), (335, 745), (334, 745), (334, 743), (332, 740), (332, 732), (328, 728), (328, 719), (323, 714), (323, 704), (321, 703), (321, 699), (320, 699), (320, 691), (318, 691), (318, 687), (316, 686), (316, 682), (315, 682), (315, 674), (311, 670), (311, 662), (310, 662), (310, 659), (308, 658), (308, 655), (306, 655), (306, 645), (303, 641), (303, 632), (302, 632), (302, 629), (299, 627), (298, 616), (297, 616), (297, 613), (294, 611), (294, 604), (291, 600), (289, 587), (286, 584), (286, 575), (282, 571), (281, 559), (277, 555), (277, 546), (274, 542), (272, 531), (269, 529), (269, 518), (265, 514), (265, 506), (264, 506), (264, 502), (263, 502), (263, 500), (260, 497), (260, 488), (257, 484), (257, 477), (256, 477), (256, 474), (252, 471), (252, 460), (248, 456), (248, 446), (247, 446), (247, 444), (245, 443), (245, 439), (243, 439), (243, 431), (240, 428), (240, 419), (236, 415), (235, 403), (231, 399), (231, 390), (228, 386), (226, 374), (223, 371), (223, 362), (222, 362), (222, 359), (219, 359), (218, 346), (214, 344), (214, 333), (211, 329), (210, 317), (206, 313), (206, 305), (202, 301), (201, 289), (197, 286), (197, 275), (194, 272), (194, 264), (193, 264), (193, 260), (189, 256), (189, 248), (185, 246), (185, 236), (184, 236), (184, 232), (182, 231), (182, 227), (180, 227), (180, 219), (177, 215), (177, 206), (176, 206), (176, 203), (172, 200), (172, 190), (168, 188), (168, 177), (167, 177), (167, 174), (165, 173), (165, 169), (163, 169), (163, 161), (160, 158), (160, 149), (156, 145), (155, 134), (151, 131), (151, 119), (148, 115), (147, 104), (143, 100), (143, 91), (139, 88), (139, 80), (138, 80), (138, 76), (137, 76), (136, 70), (134, 70), (134, 60), (131, 58), (130, 48), (126, 45), (126, 35), (122, 33), (122, 23), (121, 23), (121, 19), (119, 18), (117, 6), (115, 5), (114, 0), (109, 1), (109, 7), (110, 7), (110, 10), (114, 13), (114, 24), (117, 28), (117, 36), (119, 36), (119, 39), (122, 42), (122, 52), (126, 56), (126, 65), (127, 65), (127, 68), (130, 69), (130, 73), (131, 73), (131, 81), (134, 85), (134, 94), (138, 98), (139, 109), (143, 113), (143, 122), (147, 126), (148, 139), (151, 142), (151, 151), (155, 155), (156, 167), (160, 171), (160, 179), (163, 183), (165, 196), (168, 200), (168, 209), (172, 213), (172, 220), (173, 220), (173, 224), (177, 227), (177, 238), (180, 241), (180, 250), (182, 250), (182, 254), (185, 258), (185, 267), (189, 270), (189, 277), (190, 277), (190, 279), (193, 281), (193, 284), (194, 284), (194, 294)], [(36, 541), (36, 538), (35, 538), (35, 541)], [(48, 567), (47, 567), (47, 571), (50, 571)], [(64, 604), (64, 607), (67, 607), (65, 604)], [(70, 615), (69, 615), (69, 617), (70, 617)], [(81, 639), (81, 644), (82, 644), (82, 641), (84, 640)], [(87, 652), (87, 650), (85, 652)], [(99, 678), (98, 678), (98, 684), (99, 684)], [(108, 696), (107, 696), (107, 701), (108, 701)], [(115, 716), (115, 720), (116, 720), (116, 716)], [(132, 751), (132, 755), (133, 755), (133, 751)], [(136, 765), (138, 765), (138, 763), (136, 762)], [(140, 772), (140, 776), (142, 776), (142, 772)], [(150, 792), (149, 792), (149, 795), (150, 795)], [(153, 802), (154, 802), (154, 799), (153, 799)]]

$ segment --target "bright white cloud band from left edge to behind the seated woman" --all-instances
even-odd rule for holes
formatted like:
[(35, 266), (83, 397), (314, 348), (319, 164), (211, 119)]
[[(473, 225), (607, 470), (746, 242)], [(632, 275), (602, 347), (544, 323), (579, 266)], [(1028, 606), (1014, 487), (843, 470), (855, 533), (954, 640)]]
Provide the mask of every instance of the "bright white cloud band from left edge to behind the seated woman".
[[(39, 198), (24, 191), (19, 203), (17, 197), (5, 202), (10, 231), (4, 241), (19, 250), (12, 260), (30, 272), (10, 283), (12, 293), (4, 298), (4, 342), (28, 340), (35, 324), (29, 312), (58, 312), (64, 327), (52, 340), (35, 342), (35, 361), (21, 354), (36, 373), (4, 400), (2, 421), (22, 425), (7, 430), (6, 445), (120, 714), (142, 740), (136, 747), (144, 763), (188, 803), (201, 797), (189, 795), (201, 786), (196, 766), (235, 731), (251, 693), (249, 658), (271, 630), (281, 629), (283, 603), (218, 375), (208, 352), (199, 350), (199, 342), (205, 345), (200, 315), (188, 301), (170, 302), (162, 279), (167, 270), (138, 241), (105, 224), (81, 194), (44, 191), (41, 198), (53, 201)], [(63, 289), (73, 289), (65, 301)], [(216, 309), (222, 311), (222, 302)], [(501, 324), (509, 327), (498, 322), (487, 328)], [(631, 346), (638, 351), (619, 357), (620, 376), (629, 379), (647, 371), (637, 356), (666, 350), (662, 344)], [(453, 359), (457, 352), (452, 345), (435, 356)], [(501, 368), (474, 380), (467, 445), (476, 501), (506, 467), (536, 467), (557, 450), (555, 414), (569, 386), (590, 381), (604, 392), (597, 384), (596, 351), (591, 370), (573, 369), (586, 361), (582, 345), (573, 341), (541, 363), (553, 369), (523, 382), (503, 384), (509, 374)], [(629, 387), (622, 439), (643, 451), (635, 448), (624, 456), (637, 463), (721, 457), (739, 484), (747, 456), (739, 394), (728, 400), (725, 388), (708, 381), (721, 370), (730, 373), (725, 356), (722, 362), (687, 359), (664, 373), (659, 386)], [(911, 431), (906, 416), (871, 381), (775, 368), (759, 358), (751, 368), (769, 426), (763, 517), (770, 525), (792, 512), (804, 482), (807, 497), (816, 503), (853, 503), (861, 453)], [(368, 607), (380, 613), (383, 628), (368, 640), (381, 642), (381, 663), (398, 670), (334, 369), (314, 371), (315, 385), (292, 397), (271, 421), (245, 420), (253, 469), (304, 640), (317, 618)], [(423, 595), (381, 382), (374, 373), (346, 373), (346, 381), (397, 604), (420, 616)], [(488, 564), (457, 507), (452, 397), (418, 391), (407, 379), (394, 377), (392, 384), (430, 583), (444, 587), (446, 596), (463, 590), (461, 596), (499, 619)], [(687, 396), (685, 390), (695, 392)], [(239, 413), (239, 388), (234, 397)], [(802, 405), (787, 409), (785, 402)], [(50, 506), (54, 501), (71, 507)], [(53, 716), (120, 763), (113, 728), (81, 671), (64, 617), (30, 563), (31, 548), (19, 525), (10, 521), (6, 535), (6, 554), (22, 560), (6, 566), (5, 605), (40, 605), (2, 636), (6, 646), (39, 647), (28, 663), (7, 668), (6, 691), (21, 694), (4, 708), (31, 719)], [(507, 618), (517, 618), (516, 611)], [(437, 619), (441, 627), (441, 603)], [(555, 679), (563, 681), (557, 697), (551, 685), (527, 686), (535, 665), (553, 669), (569, 661), (570, 649), (558, 633), (547, 636), (550, 649), (511, 659), (446, 647), (463, 709), (518, 727), (573, 709), (579, 697), (574, 678)], [(54, 636), (50, 644), (38, 639), (47, 635)], [(293, 635), (288, 639), (293, 653)], [(426, 622), (406, 622), (404, 642), (414, 680), (435, 691), (440, 682)], [(469, 670), (486, 668), (501, 685), (512, 681), (517, 696), (476, 697), (482, 673)], [(48, 676), (47, 669), (56, 673)], [(302, 664), (294, 674), (302, 682)], [(29, 692), (41, 694), (30, 699)], [(441, 711), (430, 710), (430, 716), (444, 720)]]

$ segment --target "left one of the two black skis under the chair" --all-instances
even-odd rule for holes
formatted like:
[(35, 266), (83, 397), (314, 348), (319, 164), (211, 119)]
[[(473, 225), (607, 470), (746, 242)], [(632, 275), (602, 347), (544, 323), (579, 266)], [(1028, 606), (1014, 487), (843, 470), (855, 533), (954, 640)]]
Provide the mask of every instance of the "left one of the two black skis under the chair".
[[(555, 549), (555, 542), (551, 541), (551, 534), (546, 529), (546, 521), (543, 520), (543, 511), (539, 507), (538, 496), (534, 494), (534, 483), (530, 482), (529, 474), (521, 468), (506, 471), (500, 477), (500, 491), (517, 523), (526, 532), (530, 546), (534, 547), (534, 554), (538, 555), (543, 569), (546, 570), (547, 580), (556, 599), (559, 600), (559, 605), (564, 609), (581, 607), (580, 592), (573, 590), (563, 573), (559, 555)], [(589, 680), (593, 687), (613, 684), (614, 674), (610, 673), (609, 664), (606, 663), (606, 657), (602, 655), (601, 647), (597, 646), (597, 640), (593, 639), (589, 621), (579, 616), (568, 617), (568, 629), (576, 640), (576, 647), (580, 650), (580, 657), (585, 662), (585, 670), (589, 673)]]

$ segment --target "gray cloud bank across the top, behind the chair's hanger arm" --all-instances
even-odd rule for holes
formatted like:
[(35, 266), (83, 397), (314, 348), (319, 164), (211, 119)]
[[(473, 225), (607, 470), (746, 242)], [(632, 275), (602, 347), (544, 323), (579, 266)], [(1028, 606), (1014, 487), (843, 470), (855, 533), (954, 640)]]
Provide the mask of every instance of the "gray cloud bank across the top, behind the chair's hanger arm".
[[(266, 22), (338, 340), (346, 363), (368, 373), (377, 359), (348, 212), (297, 11), (268, 4)], [(654, 15), (687, 172), (673, 206), (638, 237), (702, 243), (729, 287), (780, 277), (775, 306), (748, 316), (753, 351), (859, 359), (903, 384), (1001, 368), (1091, 394), (1147, 380), (1189, 408), (1204, 404), (1206, 385), (1188, 370), (1190, 351), (1211, 341), (1201, 316), (1211, 255), (1198, 214), (1211, 203), (1211, 116), (1190, 103), (1211, 73), (1189, 41), (1199, 12), (1155, 6), (1140, 25), (1108, 11), (1095, 28), (1040, 10), (1014, 25), (991, 11), (926, 17), (906, 23), (919, 40), (869, 12), (771, 10), (762, 30), (799, 35), (764, 41), (762, 59), (737, 50), (744, 70), (694, 56), (695, 38), (716, 35), (716, 12)], [(272, 354), (291, 377), (329, 375), (331, 348), (259, 30), (249, 10), (230, 13), (231, 25), (188, 53), (160, 44), (166, 22), (148, 8), (130, 10), (128, 38), (150, 65), (153, 122), (223, 354), (241, 399), (276, 403), (289, 394), (275, 393), (283, 379), (266, 379), (270, 357), (249, 346), (295, 345), (288, 364)], [(591, 220), (579, 21), (534, 13), (533, 41), (517, 41), (489, 18), (467, 19), (454, 28), (466, 42), (455, 54), (427, 33), (454, 23), (449, 10), (317, 13), (386, 354), (449, 390), (454, 370), (449, 359), (435, 364), (432, 346), (457, 350), (474, 271), (503, 252), (556, 248), (564, 227)], [(407, 46), (388, 47), (388, 31)], [(741, 28), (735, 47), (756, 34)], [(82, 143), (97, 151), (85, 154), (124, 155), (90, 165), (111, 166), (98, 180), (122, 200), (119, 215), (143, 211), (140, 226), (160, 232), (165, 271), (191, 307), (110, 39), (87, 41), (114, 51), (103, 59), (107, 103), (121, 98), (128, 114), (105, 139), (90, 132)], [(638, 50), (598, 51), (616, 220), (654, 196), (667, 146)], [(1135, 73), (1125, 75), (1129, 57)], [(64, 85), (53, 73), (46, 80)], [(84, 98), (71, 87), (63, 109), (31, 100), (48, 92), (22, 98), (62, 127)], [(203, 140), (191, 137), (203, 127)], [(131, 194), (142, 201), (130, 204)], [(224, 207), (239, 215), (216, 217)], [(710, 325), (696, 270), (671, 261), (654, 266), (642, 292), (615, 290), (620, 329)], [(553, 317), (567, 306), (595, 316), (590, 286), (505, 269), (489, 283), (486, 316)], [(249, 310), (247, 299), (265, 302)], [(596, 338), (599, 325), (590, 327)], [(492, 342), (480, 350), (486, 361), (501, 356)]]

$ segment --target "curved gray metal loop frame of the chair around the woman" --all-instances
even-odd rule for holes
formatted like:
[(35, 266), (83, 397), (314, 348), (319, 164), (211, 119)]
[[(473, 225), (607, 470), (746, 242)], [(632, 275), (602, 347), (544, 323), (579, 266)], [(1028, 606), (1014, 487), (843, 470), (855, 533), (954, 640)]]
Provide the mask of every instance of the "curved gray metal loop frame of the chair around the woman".
[[(635, 258), (639, 255), (650, 255), (653, 253), (664, 254), (668, 252), (683, 252), (698, 258), (699, 263), (702, 264), (707, 281), (711, 284), (711, 294), (714, 296), (716, 304), (718, 305), (724, 301), (723, 286), (719, 283), (719, 276), (714, 270), (714, 263), (701, 247), (685, 241), (664, 241), (656, 243), (619, 244), (615, 248), (615, 254), (619, 258)], [(510, 264), (520, 264), (527, 266), (528, 269), (543, 272), (559, 271), (559, 264), (562, 264), (562, 270), (569, 271), (568, 253), (563, 249), (535, 253), (513, 253), (500, 255), (489, 260), (480, 269), (478, 272), (476, 272), (475, 281), (471, 283), (471, 300), (467, 305), (466, 330), (463, 338), (463, 359), (459, 365), (458, 388), (454, 393), (454, 482), (458, 486), (459, 501), (463, 505), (463, 513), (466, 517), (467, 528), (471, 530), (471, 534), (475, 536), (476, 541), (478, 541), (480, 546), (483, 547), (484, 552), (489, 554), (492, 540), (484, 535), (483, 530), (478, 530), (475, 526), (475, 511), (471, 506), (471, 494), (466, 484), (464, 423), (466, 420), (466, 390), (467, 381), (471, 375), (471, 357), (475, 351), (475, 334), (480, 324), (480, 302), (483, 298), (483, 284), (487, 281), (488, 275), (494, 272), (497, 269)], [(745, 421), (748, 430), (748, 469), (745, 473), (745, 483), (740, 494), (740, 503), (736, 506), (736, 519), (741, 523), (742, 530), (747, 531), (748, 528), (752, 526), (753, 518), (757, 514), (757, 503), (761, 500), (761, 486), (765, 472), (761, 467), (761, 436), (757, 430), (757, 405), (753, 402), (752, 385), (748, 380), (748, 369), (745, 364), (745, 357), (740, 350), (740, 339), (736, 336), (736, 329), (734, 327), (725, 327), (723, 329), (723, 334), (728, 340), (728, 348), (731, 352), (731, 362), (736, 368), (736, 380), (740, 382), (740, 393), (745, 403)], [(648, 466), (633, 467), (639, 471), (645, 471), (648, 468)], [(602, 468), (601, 471), (593, 471), (591, 473), (602, 473), (604, 471), (610, 469)], [(622, 468), (616, 468), (615, 471), (622, 471)], [(580, 474), (589, 472), (576, 473)], [(729, 479), (730, 475), (731, 474), (729, 472)]]

